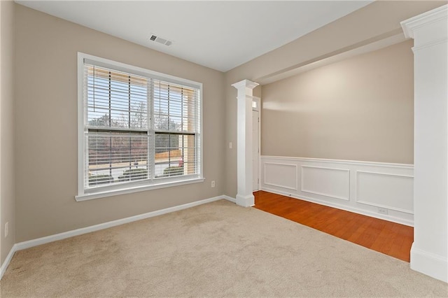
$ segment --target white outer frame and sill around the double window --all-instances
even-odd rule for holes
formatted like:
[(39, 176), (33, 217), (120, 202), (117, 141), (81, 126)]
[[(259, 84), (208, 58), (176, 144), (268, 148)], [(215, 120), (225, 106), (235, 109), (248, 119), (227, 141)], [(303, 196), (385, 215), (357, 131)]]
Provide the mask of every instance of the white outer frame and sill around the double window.
[[(156, 80), (163, 80), (168, 83), (184, 85), (196, 88), (199, 91), (199, 133), (197, 134), (196, 154), (197, 154), (197, 171), (199, 173), (188, 176), (173, 176), (163, 178), (160, 180), (141, 180), (134, 183), (125, 183), (119, 185), (111, 185), (108, 187), (99, 187), (97, 189), (91, 188), (85, 190), (84, 187), (84, 173), (85, 173), (85, 106), (84, 106), (84, 63), (88, 61), (96, 66), (103, 66), (116, 71), (125, 71), (127, 73), (134, 73), (139, 76), (145, 76)], [(152, 103), (151, 103), (152, 104)], [(148, 69), (143, 69), (138, 66), (132, 66), (113, 60), (104, 59), (78, 52), (78, 195), (76, 201), (85, 201), (90, 199), (99, 199), (102, 197), (111, 197), (118, 194), (129, 194), (132, 192), (141, 192), (145, 190), (155, 190), (162, 187), (172, 187), (176, 185), (186, 185), (190, 183), (204, 182), (203, 177), (203, 142), (202, 142), (202, 83), (193, 80), (186, 80), (177, 78), (165, 73), (159, 73)], [(151, 127), (152, 129), (152, 127)], [(150, 153), (153, 155), (153, 153)]]

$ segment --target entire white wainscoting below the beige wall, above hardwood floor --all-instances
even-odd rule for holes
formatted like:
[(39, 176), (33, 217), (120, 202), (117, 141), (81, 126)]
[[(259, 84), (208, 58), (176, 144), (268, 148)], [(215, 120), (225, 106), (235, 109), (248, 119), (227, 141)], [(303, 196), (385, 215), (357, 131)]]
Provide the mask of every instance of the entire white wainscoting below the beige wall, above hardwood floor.
[(260, 190), (414, 225), (414, 165), (261, 157)]

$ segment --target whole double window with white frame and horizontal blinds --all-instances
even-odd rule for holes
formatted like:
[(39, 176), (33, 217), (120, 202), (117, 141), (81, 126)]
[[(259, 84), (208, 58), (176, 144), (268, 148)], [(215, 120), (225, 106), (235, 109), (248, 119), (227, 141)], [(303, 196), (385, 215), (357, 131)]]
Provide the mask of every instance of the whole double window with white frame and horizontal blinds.
[(201, 182), (202, 85), (78, 53), (78, 196)]

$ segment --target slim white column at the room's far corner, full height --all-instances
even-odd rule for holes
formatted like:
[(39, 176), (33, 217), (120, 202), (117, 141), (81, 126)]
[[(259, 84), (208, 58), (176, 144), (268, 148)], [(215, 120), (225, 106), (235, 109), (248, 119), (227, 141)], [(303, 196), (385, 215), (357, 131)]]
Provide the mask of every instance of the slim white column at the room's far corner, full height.
[(255, 205), (252, 193), (252, 94), (258, 84), (241, 80), (237, 88), (237, 205)]

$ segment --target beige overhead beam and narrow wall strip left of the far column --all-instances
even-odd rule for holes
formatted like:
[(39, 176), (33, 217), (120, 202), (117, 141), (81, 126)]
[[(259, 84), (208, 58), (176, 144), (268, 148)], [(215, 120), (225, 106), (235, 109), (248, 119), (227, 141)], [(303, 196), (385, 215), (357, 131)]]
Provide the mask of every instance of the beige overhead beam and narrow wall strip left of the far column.
[[(346, 52), (361, 45), (402, 32), (400, 22), (426, 12), (447, 1), (374, 1), (368, 6), (316, 29), (283, 47), (257, 57), (225, 73), (226, 142), (237, 140), (237, 92), (233, 83), (239, 80), (269, 78), (283, 71), (297, 68), (318, 59)], [(258, 87), (259, 88), (259, 87)], [(260, 91), (255, 92), (261, 95)], [(263, 115), (262, 115), (263, 117)], [(264, 121), (264, 118), (262, 118)], [(228, 147), (227, 147), (228, 148)], [(236, 146), (226, 149), (225, 194), (235, 197), (237, 192)], [(263, 150), (263, 149), (262, 149)], [(353, 159), (353, 158), (349, 158)]]

